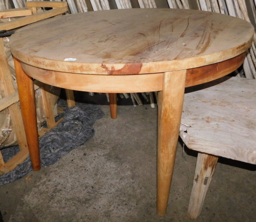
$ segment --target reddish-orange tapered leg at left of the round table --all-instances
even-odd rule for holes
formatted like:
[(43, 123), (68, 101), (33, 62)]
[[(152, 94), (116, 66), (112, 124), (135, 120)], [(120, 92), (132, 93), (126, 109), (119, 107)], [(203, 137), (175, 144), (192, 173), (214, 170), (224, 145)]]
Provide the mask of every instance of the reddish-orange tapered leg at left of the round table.
[(29, 155), (31, 157), (33, 170), (39, 170), (41, 166), (36, 122), (34, 83), (33, 79), (23, 71), (20, 61), (16, 58), (14, 58), (14, 65)]

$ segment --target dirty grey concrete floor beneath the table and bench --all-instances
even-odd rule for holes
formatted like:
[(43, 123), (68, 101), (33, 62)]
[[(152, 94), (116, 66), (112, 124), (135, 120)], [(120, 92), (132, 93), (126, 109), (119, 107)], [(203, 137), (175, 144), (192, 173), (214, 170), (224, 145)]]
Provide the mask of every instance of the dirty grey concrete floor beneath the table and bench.
[[(156, 114), (118, 106), (57, 163), (0, 187), (3, 221), (256, 221), (255, 166), (220, 160), (202, 213), (187, 217), (196, 154), (178, 145), (168, 213), (156, 214)], [(188, 153), (187, 153), (188, 152)]]

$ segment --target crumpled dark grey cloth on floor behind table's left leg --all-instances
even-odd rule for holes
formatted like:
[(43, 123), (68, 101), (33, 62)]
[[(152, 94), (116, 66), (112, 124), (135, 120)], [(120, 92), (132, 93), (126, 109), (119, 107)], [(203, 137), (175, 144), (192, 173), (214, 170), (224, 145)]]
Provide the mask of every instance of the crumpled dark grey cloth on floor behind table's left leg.
[[(76, 104), (64, 110), (60, 117), (64, 120), (39, 139), (41, 167), (57, 162), (72, 149), (84, 144), (94, 135), (93, 124), (103, 117), (102, 110), (96, 105)], [(19, 152), (19, 147), (2, 149), (5, 162)], [(10, 173), (0, 176), (0, 186), (20, 179), (32, 170), (28, 157)]]

